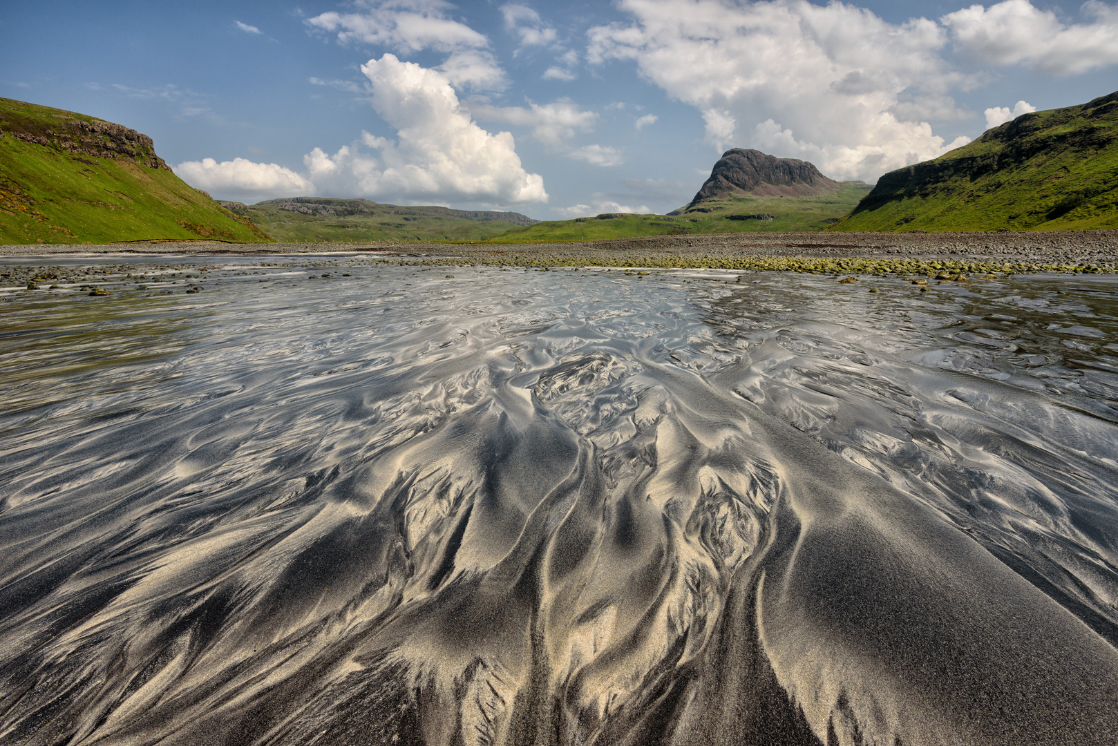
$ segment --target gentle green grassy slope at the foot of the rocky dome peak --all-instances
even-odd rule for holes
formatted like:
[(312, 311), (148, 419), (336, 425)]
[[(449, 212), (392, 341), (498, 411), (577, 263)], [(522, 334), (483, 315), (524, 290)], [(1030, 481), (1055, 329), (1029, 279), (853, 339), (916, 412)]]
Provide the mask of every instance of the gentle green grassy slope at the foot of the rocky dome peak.
[(547, 220), (533, 226), (514, 228), (487, 243), (822, 230), (849, 214), (869, 190), (870, 186), (861, 181), (844, 181), (835, 191), (815, 197), (736, 195), (689, 205), (672, 215), (615, 213), (575, 220)]

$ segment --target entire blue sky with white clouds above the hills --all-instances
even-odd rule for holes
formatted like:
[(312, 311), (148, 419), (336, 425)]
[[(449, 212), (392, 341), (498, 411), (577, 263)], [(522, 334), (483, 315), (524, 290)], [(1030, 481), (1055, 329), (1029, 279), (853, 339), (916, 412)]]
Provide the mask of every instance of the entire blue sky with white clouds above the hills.
[(1118, 2), (6, 3), (0, 96), (217, 199), (666, 213), (729, 148), (873, 183), (1118, 89)]

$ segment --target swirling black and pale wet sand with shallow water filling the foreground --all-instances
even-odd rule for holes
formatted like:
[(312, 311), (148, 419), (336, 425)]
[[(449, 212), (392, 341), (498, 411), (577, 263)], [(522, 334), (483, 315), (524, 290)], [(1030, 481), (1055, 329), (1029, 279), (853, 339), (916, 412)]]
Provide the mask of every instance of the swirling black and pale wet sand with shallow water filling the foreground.
[(113, 261), (0, 291), (0, 743), (1118, 739), (1114, 280)]

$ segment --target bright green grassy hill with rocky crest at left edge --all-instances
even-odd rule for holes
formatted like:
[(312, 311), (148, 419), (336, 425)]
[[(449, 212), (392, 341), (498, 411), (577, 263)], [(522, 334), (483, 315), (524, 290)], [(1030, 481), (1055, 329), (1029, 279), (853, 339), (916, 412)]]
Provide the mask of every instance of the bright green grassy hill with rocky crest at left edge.
[(0, 98), (0, 244), (271, 242), (193, 189), (133, 130)]

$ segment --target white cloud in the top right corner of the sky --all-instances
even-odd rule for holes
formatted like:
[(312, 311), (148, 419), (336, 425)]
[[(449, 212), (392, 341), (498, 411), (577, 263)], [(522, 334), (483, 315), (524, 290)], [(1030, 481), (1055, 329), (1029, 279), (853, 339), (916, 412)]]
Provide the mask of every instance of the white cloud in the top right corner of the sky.
[(1070, 75), (1118, 64), (1118, 8), (1090, 0), (1082, 10), (1092, 22), (1068, 26), (1029, 0), (975, 4), (940, 20), (958, 50), (992, 65)]

